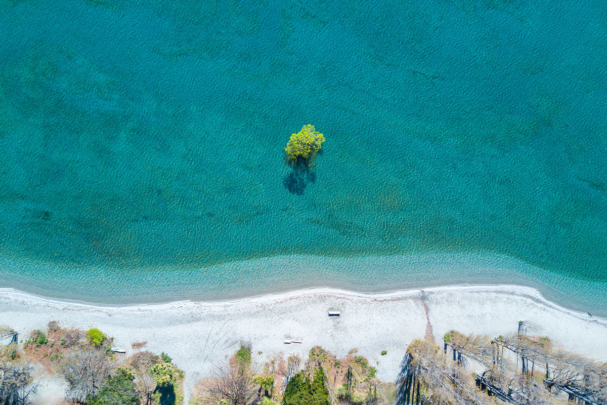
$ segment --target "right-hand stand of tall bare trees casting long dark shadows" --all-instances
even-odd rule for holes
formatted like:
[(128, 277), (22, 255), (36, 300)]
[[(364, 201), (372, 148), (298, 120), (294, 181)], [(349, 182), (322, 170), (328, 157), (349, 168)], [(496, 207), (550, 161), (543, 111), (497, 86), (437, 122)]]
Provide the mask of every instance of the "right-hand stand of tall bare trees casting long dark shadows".
[[(522, 327), (521, 327), (522, 326)], [(472, 373), (474, 364), (483, 371)], [(412, 342), (398, 381), (398, 404), (599, 405), (607, 400), (607, 364), (555, 349), (550, 339), (518, 333), (491, 339), (451, 331), (444, 347)]]

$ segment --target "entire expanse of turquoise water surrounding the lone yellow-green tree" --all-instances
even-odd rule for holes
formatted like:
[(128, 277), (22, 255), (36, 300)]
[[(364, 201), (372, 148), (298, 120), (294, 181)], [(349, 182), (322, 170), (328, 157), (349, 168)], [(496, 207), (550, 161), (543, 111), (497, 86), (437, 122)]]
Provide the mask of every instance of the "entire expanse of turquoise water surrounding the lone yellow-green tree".
[(482, 280), (607, 314), (603, 1), (0, 0), (0, 33), (0, 287)]

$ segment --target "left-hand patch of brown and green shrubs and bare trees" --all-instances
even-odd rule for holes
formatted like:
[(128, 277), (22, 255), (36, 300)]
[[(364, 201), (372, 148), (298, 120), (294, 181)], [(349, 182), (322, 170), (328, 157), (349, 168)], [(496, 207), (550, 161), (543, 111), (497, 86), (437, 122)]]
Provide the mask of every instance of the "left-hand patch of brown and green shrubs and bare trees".
[[(0, 404), (29, 403), (37, 388), (29, 364), (40, 364), (65, 379), (66, 404), (183, 403), (183, 372), (168, 355), (137, 352), (126, 358), (112, 352), (111, 344), (112, 338), (96, 328), (85, 332), (49, 322), (46, 330), (30, 333), (22, 349), (16, 343), (0, 345)], [(19, 384), (8, 381), (10, 375), (21, 376)]]

